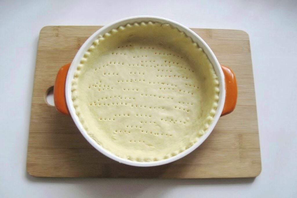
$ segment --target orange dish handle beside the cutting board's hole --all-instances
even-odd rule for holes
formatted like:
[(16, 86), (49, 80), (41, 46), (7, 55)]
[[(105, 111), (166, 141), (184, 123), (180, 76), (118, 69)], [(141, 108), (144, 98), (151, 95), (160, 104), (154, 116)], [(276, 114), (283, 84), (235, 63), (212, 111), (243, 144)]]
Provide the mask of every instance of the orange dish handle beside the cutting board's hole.
[(54, 86), (54, 102), (56, 109), (62, 114), (69, 115), (69, 110), (65, 98), (65, 83), (66, 77), (71, 63), (68, 63), (60, 68), (58, 71), (56, 82)]

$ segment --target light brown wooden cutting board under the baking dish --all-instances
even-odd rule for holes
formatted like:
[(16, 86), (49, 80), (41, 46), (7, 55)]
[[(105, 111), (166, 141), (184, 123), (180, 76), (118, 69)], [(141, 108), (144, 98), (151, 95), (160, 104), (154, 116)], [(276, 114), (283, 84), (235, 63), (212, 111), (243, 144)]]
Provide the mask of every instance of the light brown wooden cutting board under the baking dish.
[(249, 36), (240, 30), (192, 29), (233, 69), (238, 100), (206, 141), (186, 157), (157, 167), (132, 167), (105, 157), (80, 134), (71, 117), (45, 101), (59, 68), (101, 26), (47, 26), (39, 36), (27, 171), (39, 177), (236, 178), (261, 171), (259, 134)]

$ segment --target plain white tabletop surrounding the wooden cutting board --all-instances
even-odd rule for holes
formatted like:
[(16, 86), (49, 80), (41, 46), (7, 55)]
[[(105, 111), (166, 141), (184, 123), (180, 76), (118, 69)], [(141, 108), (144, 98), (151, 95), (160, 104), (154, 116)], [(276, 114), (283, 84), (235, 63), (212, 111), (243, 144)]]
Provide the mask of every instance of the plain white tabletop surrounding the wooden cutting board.
[[(65, 179), (26, 173), (39, 31), (133, 15), (249, 34), (262, 172), (255, 179)], [(0, 197), (297, 197), (297, 1), (0, 1)]]

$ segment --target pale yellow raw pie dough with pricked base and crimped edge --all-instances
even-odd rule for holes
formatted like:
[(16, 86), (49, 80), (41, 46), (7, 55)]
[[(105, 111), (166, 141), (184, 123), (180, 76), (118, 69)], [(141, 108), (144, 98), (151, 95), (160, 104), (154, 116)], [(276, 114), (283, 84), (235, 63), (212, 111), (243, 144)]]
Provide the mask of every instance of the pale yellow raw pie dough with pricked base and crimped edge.
[(113, 154), (150, 162), (192, 146), (213, 120), (219, 81), (206, 54), (168, 24), (100, 36), (81, 59), (72, 100), (88, 134)]

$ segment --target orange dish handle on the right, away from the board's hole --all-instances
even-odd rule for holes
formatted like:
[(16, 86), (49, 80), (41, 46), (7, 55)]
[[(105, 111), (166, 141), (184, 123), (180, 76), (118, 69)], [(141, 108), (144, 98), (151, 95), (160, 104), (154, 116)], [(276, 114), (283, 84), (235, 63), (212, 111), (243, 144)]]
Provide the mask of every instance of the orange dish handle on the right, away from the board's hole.
[(237, 101), (237, 83), (234, 72), (227, 66), (221, 65), (225, 75), (226, 97), (225, 104), (221, 116), (230, 114), (236, 106)]

